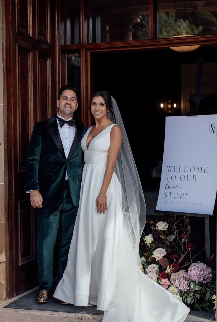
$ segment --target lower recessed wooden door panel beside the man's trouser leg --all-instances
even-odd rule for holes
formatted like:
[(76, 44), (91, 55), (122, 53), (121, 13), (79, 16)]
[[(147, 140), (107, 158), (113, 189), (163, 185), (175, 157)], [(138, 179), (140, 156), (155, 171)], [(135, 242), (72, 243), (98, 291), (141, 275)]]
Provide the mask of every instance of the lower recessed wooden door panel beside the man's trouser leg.
[(35, 259), (35, 215), (29, 199), (19, 200), (19, 266)]

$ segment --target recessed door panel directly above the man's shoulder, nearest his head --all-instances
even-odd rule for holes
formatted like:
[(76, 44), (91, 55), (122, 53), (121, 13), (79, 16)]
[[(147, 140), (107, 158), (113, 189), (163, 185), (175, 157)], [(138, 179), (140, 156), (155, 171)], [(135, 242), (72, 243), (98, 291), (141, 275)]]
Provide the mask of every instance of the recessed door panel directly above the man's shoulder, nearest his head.
[(38, 56), (39, 120), (51, 117), (50, 58)]

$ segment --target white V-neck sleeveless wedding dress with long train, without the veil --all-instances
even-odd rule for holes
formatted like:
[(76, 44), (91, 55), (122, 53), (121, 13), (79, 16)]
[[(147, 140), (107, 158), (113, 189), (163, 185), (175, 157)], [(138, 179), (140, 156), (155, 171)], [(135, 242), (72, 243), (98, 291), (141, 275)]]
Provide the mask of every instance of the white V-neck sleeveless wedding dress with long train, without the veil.
[(189, 309), (138, 267), (123, 223), (122, 190), (113, 172), (107, 190), (108, 210), (95, 205), (104, 178), (110, 131), (94, 137), (87, 150), (81, 141), (85, 166), (79, 208), (68, 263), (54, 297), (77, 306), (97, 305), (103, 322), (183, 322)]

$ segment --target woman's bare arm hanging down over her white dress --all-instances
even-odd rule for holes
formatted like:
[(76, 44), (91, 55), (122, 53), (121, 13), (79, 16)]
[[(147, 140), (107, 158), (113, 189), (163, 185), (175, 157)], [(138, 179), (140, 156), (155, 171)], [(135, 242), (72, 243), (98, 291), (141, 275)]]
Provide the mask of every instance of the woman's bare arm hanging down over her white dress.
[(107, 165), (105, 169), (103, 184), (102, 184), (100, 193), (96, 198), (97, 213), (100, 213), (100, 214), (105, 213), (105, 210), (107, 210), (106, 192), (111, 182), (115, 162), (117, 160), (117, 156), (121, 148), (122, 132), (121, 132), (121, 128), (118, 125), (115, 125), (112, 127), (110, 132), (110, 139), (111, 139), (111, 142), (110, 142), (110, 147), (108, 149)]

